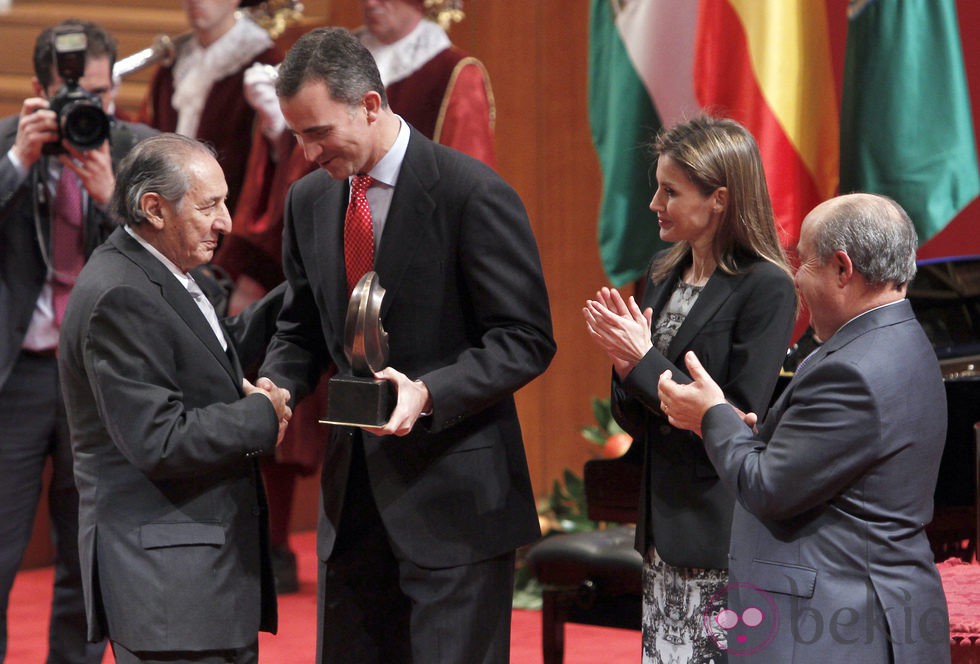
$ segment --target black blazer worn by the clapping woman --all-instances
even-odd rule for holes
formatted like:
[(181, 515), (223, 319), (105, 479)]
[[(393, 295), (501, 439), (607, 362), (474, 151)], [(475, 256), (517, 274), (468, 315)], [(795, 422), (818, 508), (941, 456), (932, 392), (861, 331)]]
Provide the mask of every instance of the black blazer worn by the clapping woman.
[[(625, 380), (613, 379), (613, 413), (645, 455), (637, 549), (645, 554), (654, 544), (672, 565), (727, 567), (733, 499), (697, 436), (661, 414), (660, 374), (670, 369), (675, 379), (686, 378), (684, 354), (693, 350), (732, 403), (764, 413), (793, 329), (796, 291), (789, 276), (766, 261), (743, 262), (741, 274), (715, 271), (666, 357), (651, 349)], [(642, 306), (653, 307), (654, 320), (680, 273), (644, 293)]]

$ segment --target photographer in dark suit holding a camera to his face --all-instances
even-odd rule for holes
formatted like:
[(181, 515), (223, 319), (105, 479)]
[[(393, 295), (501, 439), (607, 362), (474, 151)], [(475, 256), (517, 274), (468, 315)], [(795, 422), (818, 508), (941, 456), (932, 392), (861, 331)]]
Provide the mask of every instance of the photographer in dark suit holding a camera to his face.
[(48, 661), (102, 659), (103, 645), (85, 642), (78, 494), (55, 349), (74, 278), (112, 227), (105, 205), (113, 163), (156, 133), (109, 115), (115, 59), (115, 41), (92, 23), (47, 28), (34, 47), (34, 96), (19, 115), (0, 120), (0, 662), (10, 588), (49, 455), (55, 591)]

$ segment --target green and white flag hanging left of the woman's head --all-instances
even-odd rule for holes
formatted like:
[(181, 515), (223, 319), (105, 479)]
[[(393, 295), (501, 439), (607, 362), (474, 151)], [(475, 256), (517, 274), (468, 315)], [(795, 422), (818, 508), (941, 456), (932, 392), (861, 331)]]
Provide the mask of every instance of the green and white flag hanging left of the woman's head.
[[(589, 120), (603, 175), (599, 254), (615, 286), (641, 277), (659, 239), (648, 146), (693, 115), (698, 3), (592, 0)], [(655, 94), (654, 94), (655, 92)]]

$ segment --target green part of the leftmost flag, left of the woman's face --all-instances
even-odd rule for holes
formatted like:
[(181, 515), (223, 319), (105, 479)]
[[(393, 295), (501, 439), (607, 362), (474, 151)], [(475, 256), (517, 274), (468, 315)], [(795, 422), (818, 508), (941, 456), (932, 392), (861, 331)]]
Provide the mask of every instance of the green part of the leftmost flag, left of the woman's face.
[(610, 0), (592, 0), (589, 121), (603, 175), (599, 255), (616, 286), (643, 275), (660, 246), (648, 145), (661, 122), (615, 24)]

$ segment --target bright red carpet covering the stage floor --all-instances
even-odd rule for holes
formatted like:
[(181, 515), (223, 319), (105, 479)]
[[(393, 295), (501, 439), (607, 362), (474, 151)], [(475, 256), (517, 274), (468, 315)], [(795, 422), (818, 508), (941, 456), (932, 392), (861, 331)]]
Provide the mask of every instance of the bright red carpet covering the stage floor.
[[(316, 555), (314, 533), (298, 533), (291, 544), (296, 551), (300, 592), (279, 598), (279, 634), (259, 635), (262, 664), (313, 662), (316, 643)], [(48, 613), (51, 606), (51, 568), (21, 572), (10, 597), (8, 664), (37, 664), (47, 653)], [(541, 664), (541, 614), (514, 611), (511, 626), (511, 662)], [(104, 664), (114, 659), (106, 653)], [(640, 633), (568, 625), (565, 664), (632, 664), (640, 661)]]

